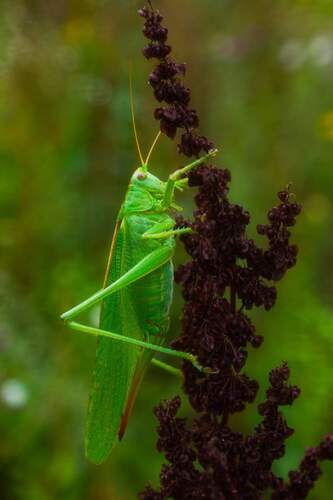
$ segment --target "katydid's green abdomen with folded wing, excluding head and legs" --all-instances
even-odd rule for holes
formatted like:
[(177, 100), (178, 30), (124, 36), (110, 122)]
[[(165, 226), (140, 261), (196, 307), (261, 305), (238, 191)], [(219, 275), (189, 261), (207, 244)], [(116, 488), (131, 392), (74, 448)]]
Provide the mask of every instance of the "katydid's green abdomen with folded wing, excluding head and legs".
[[(126, 204), (126, 200), (125, 200)], [(123, 213), (118, 220), (104, 285), (115, 282), (159, 247), (173, 249), (174, 237), (143, 239), (142, 235), (166, 214)], [(171, 259), (155, 271), (104, 299), (100, 328), (125, 337), (162, 344), (172, 302)], [(89, 401), (86, 454), (103, 462), (118, 436), (121, 438), (141, 379), (154, 352), (100, 337)]]

